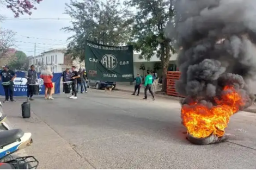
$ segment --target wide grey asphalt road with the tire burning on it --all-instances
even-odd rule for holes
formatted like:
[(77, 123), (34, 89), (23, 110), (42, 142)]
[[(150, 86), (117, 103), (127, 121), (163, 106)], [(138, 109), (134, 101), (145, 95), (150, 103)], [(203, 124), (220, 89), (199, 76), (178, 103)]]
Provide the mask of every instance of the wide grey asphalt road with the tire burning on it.
[(177, 101), (102, 90), (54, 98), (31, 102), (30, 119), (14, 116), (23, 99), (4, 105), (15, 126), (32, 132), (26, 150), (44, 162), (40, 168), (256, 167), (256, 114), (233, 116), (227, 142), (196, 146), (186, 140)]

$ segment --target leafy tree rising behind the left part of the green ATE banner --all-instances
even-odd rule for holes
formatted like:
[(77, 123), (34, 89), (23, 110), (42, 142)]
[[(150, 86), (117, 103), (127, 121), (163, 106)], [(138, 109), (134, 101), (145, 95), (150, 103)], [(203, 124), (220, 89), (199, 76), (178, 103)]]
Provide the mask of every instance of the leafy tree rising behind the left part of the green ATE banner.
[(106, 3), (97, 0), (70, 1), (66, 4), (65, 14), (70, 15), (72, 27), (63, 28), (66, 32), (74, 32), (69, 37), (68, 52), (74, 58), (84, 60), (86, 40), (103, 45), (124, 45), (130, 38), (131, 20), (127, 19), (129, 11), (116, 0)]

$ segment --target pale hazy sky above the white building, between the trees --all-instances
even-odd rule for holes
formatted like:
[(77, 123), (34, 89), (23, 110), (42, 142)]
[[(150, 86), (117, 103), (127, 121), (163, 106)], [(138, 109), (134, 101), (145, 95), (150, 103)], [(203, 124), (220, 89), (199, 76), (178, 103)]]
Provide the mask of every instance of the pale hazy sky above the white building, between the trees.
[[(71, 26), (71, 18), (63, 14), (65, 3), (69, 3), (69, 0), (43, 0), (40, 4), (36, 4), (37, 10), (32, 10), (32, 15), (20, 15), (19, 18), (14, 18), (11, 10), (0, 7), (1, 14), (7, 17), (7, 20), (0, 23), (0, 27), (16, 32), (15, 48), (23, 51), (27, 56), (34, 55), (34, 46), (36, 46), (36, 55), (54, 48), (65, 48), (68, 45), (68, 37), (74, 34), (60, 30)], [(54, 18), (55, 20), (28, 20), (27, 18)], [(56, 20), (56, 18), (66, 19)]]

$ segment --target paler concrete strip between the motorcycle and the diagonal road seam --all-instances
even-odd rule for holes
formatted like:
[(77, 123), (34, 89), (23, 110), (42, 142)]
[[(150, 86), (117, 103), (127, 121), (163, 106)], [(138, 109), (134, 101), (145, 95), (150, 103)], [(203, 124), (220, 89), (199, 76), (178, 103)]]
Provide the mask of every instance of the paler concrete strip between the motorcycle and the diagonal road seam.
[(17, 99), (15, 103), (3, 104), (3, 112), (7, 114), (11, 128), (21, 128), (25, 132), (32, 133), (33, 139), (32, 145), (21, 150), (20, 155), (35, 156), (39, 161), (38, 169), (93, 168), (81, 155), (77, 154), (74, 146), (71, 146), (44, 122), (44, 118), (36, 115), (34, 111), (37, 109), (33, 104), (31, 105), (31, 118), (22, 118), (21, 104), (26, 99), (19, 97), (15, 99)]

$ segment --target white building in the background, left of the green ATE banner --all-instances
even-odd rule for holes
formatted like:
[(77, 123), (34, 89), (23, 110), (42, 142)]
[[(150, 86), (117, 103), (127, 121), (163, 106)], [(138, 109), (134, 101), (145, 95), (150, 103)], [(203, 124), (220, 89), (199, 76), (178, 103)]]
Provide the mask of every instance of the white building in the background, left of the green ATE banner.
[(37, 56), (29, 56), (29, 66), (34, 65), (37, 72), (41, 72), (45, 67), (51, 66), (52, 72), (60, 73), (63, 72), (67, 67), (75, 65), (78, 68), (83, 68), (84, 63), (72, 61), (71, 55), (65, 55), (65, 49), (53, 49), (41, 53)]

